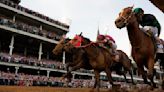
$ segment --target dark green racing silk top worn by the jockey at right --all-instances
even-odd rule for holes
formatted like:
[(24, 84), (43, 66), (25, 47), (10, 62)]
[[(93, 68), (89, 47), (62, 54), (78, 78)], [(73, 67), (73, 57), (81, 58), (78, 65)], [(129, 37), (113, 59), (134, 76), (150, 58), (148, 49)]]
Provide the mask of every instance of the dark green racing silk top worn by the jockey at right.
[(156, 17), (152, 14), (144, 14), (142, 17), (142, 21), (139, 22), (141, 26), (153, 26), (158, 28), (158, 36), (160, 35), (161, 26), (156, 19)]

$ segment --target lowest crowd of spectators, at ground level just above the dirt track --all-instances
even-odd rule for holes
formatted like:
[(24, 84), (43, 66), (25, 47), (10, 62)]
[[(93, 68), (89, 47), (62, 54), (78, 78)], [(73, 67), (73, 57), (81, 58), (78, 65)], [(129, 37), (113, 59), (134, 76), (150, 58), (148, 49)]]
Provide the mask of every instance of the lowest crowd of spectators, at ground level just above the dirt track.
[[(17, 86), (55, 86), (65, 87), (67, 80), (60, 77), (47, 77), (43, 75), (28, 75), (24, 73), (11, 73), (0, 71), (0, 85), (17, 85)], [(101, 81), (103, 88), (107, 88), (107, 83)], [(73, 79), (68, 84), (69, 87), (93, 87), (94, 80)]]

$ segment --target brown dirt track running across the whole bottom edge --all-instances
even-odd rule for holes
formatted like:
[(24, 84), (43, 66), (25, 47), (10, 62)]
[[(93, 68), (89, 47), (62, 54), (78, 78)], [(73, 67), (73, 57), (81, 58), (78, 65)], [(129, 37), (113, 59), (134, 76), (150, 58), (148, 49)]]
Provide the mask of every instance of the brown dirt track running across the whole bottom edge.
[[(21, 86), (0, 86), (0, 92), (93, 92), (91, 88), (56, 88), (56, 87), (21, 87)], [(150, 90), (149, 87), (142, 89), (127, 88), (101, 89), (100, 92), (164, 92), (161, 89)]]

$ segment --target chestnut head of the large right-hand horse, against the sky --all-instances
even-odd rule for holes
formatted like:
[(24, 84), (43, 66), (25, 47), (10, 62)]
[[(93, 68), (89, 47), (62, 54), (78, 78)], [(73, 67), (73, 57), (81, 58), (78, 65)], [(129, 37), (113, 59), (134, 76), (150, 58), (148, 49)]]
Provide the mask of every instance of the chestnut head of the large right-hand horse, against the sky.
[(123, 28), (127, 26), (129, 23), (134, 21), (134, 13), (132, 11), (132, 7), (124, 8), (120, 13), (119, 17), (115, 20), (115, 25), (117, 28)]

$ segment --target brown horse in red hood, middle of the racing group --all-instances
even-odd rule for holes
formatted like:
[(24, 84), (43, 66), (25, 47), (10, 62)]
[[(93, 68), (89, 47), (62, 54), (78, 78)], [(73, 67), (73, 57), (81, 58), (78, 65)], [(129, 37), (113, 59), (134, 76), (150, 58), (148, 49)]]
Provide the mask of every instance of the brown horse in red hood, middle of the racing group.
[(101, 71), (105, 71), (109, 79), (109, 82), (113, 86), (115, 85), (113, 84), (111, 70), (110, 70), (110, 67), (112, 66), (113, 61), (111, 58), (111, 54), (106, 49), (99, 48), (96, 43), (90, 43), (81, 47), (74, 47), (72, 43), (68, 43), (65, 45), (66, 51), (70, 51), (73, 49), (78, 49), (78, 50), (86, 52), (85, 55), (88, 57), (89, 64), (94, 70), (94, 74), (95, 74), (94, 88), (96, 88), (96, 91), (99, 92)]

